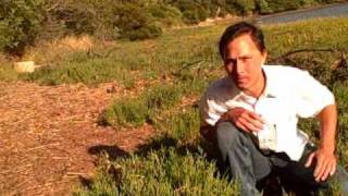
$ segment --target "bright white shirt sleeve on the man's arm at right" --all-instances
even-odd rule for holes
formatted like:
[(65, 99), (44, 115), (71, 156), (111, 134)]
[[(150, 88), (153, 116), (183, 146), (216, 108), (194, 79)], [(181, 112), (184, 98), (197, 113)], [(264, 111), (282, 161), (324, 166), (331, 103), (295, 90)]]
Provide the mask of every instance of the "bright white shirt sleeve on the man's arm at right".
[[(294, 81), (296, 79), (296, 81)], [(307, 71), (298, 72), (293, 77), (295, 85), (297, 115), (311, 118), (320, 113), (326, 106), (334, 105), (335, 98), (330, 89), (311, 76)]]

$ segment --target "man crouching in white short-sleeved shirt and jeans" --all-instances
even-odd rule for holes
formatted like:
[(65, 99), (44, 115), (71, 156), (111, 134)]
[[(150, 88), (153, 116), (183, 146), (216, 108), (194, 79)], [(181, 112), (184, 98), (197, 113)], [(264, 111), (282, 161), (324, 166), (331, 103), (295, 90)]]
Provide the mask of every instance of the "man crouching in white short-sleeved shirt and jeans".
[[(200, 131), (216, 140), (241, 195), (259, 195), (257, 182), (274, 171), (311, 192), (335, 179), (348, 195), (348, 175), (335, 157), (333, 94), (306, 71), (264, 65), (263, 34), (246, 22), (227, 27), (219, 49), (227, 75), (201, 98)], [(297, 127), (298, 118), (310, 117), (321, 123), (318, 147)]]

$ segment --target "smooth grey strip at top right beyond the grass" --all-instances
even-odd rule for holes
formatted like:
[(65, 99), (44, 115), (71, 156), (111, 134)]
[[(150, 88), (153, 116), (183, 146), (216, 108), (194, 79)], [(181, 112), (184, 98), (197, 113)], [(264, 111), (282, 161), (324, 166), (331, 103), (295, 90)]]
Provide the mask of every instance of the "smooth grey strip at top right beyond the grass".
[(313, 17), (330, 17), (330, 16), (348, 16), (348, 2), (325, 5), (316, 9), (283, 12), (278, 14), (260, 16), (257, 19), (261, 24), (274, 24), (295, 22)]

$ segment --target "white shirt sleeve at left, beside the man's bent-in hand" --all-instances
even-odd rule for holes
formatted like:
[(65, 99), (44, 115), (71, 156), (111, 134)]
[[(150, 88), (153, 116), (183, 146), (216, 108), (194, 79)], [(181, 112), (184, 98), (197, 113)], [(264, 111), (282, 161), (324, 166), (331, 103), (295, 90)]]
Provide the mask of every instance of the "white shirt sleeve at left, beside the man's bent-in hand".
[(201, 124), (214, 126), (227, 108), (220, 103), (215, 96), (206, 93), (200, 100), (199, 111)]

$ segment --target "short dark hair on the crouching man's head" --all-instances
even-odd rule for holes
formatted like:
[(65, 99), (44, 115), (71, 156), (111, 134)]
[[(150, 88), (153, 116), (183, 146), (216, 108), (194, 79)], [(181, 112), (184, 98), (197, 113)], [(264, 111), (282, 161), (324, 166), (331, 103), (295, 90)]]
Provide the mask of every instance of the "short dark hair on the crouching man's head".
[(219, 42), (219, 51), (222, 59), (224, 59), (225, 57), (227, 45), (231, 41), (233, 41), (235, 38), (245, 34), (249, 34), (251, 36), (251, 39), (253, 40), (253, 42), (256, 44), (260, 52), (265, 51), (262, 30), (257, 26), (249, 24), (247, 22), (239, 22), (228, 26), (225, 29), (224, 34), (221, 36), (221, 39)]

